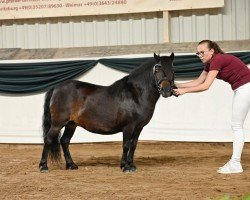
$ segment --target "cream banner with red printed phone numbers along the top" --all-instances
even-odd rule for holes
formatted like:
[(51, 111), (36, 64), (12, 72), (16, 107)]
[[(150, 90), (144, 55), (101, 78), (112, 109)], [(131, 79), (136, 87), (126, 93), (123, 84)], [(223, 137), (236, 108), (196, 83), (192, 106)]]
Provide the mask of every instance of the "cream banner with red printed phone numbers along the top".
[(0, 0), (0, 20), (223, 7), (224, 0)]

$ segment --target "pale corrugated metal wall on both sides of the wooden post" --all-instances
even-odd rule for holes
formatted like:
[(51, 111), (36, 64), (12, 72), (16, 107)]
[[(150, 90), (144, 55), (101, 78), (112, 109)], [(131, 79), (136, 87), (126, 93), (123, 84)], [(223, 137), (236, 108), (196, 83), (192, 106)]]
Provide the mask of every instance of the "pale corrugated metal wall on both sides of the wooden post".
[[(170, 42), (250, 39), (250, 1), (170, 12)], [(0, 21), (0, 48), (62, 48), (163, 43), (162, 12)]]

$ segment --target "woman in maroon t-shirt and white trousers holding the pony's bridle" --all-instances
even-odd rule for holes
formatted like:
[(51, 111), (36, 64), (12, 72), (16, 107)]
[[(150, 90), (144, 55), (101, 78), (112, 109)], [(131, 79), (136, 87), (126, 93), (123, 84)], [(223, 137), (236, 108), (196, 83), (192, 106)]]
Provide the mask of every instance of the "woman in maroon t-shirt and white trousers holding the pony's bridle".
[(203, 72), (193, 81), (175, 83), (176, 95), (208, 90), (215, 78), (228, 82), (233, 91), (231, 126), (233, 130), (233, 154), (231, 159), (218, 169), (218, 173), (243, 172), (241, 154), (244, 146), (243, 123), (250, 107), (250, 69), (237, 57), (224, 53), (217, 43), (202, 40), (197, 47), (197, 56), (205, 64)]

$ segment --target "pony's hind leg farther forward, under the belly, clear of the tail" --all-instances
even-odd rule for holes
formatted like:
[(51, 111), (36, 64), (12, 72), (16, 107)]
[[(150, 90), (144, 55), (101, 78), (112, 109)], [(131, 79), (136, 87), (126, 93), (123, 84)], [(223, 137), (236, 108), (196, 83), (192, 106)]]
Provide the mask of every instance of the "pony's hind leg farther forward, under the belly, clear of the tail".
[(69, 122), (65, 126), (63, 136), (60, 139), (64, 153), (64, 158), (66, 161), (66, 169), (78, 169), (78, 166), (73, 162), (69, 151), (69, 143), (72, 136), (74, 135), (75, 129), (76, 129), (76, 124), (74, 122)]

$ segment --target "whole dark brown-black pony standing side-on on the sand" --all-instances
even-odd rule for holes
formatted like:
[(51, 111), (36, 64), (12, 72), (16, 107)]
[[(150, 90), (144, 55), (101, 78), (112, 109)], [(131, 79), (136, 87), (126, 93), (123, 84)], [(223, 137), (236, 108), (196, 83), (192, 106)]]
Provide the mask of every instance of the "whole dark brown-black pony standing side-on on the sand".
[(123, 172), (135, 171), (133, 159), (139, 135), (152, 118), (160, 94), (173, 95), (173, 60), (173, 53), (154, 54), (154, 58), (110, 86), (70, 80), (49, 90), (44, 104), (40, 171), (48, 172), (48, 155), (55, 161), (60, 158), (60, 143), (66, 169), (78, 169), (69, 151), (77, 126), (104, 135), (123, 132), (120, 167)]

